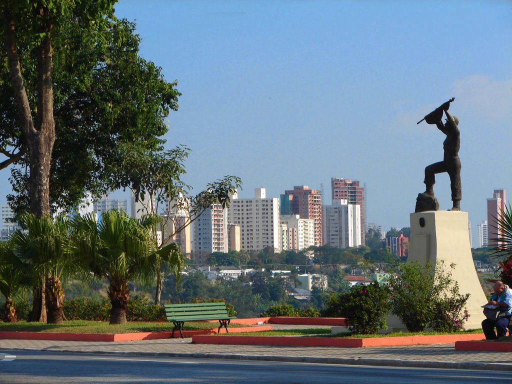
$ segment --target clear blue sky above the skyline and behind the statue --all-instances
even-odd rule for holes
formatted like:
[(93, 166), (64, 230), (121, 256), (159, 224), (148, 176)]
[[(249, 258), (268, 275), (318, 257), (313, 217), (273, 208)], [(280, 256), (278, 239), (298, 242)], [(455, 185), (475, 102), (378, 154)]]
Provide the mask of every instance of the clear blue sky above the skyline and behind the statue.
[[(354, 178), (367, 184), (369, 222), (409, 226), (423, 169), (443, 155), (444, 135), (416, 122), (455, 97), (461, 207), (473, 228), (494, 188), (512, 193), (509, 1), (121, 0), (115, 8), (136, 20), (142, 56), (179, 82), (166, 139), (192, 149), (185, 180), (195, 191), (237, 175), (241, 197), (323, 183), (328, 203), (331, 177)], [(441, 209), (451, 207), (446, 174), (435, 193)]]

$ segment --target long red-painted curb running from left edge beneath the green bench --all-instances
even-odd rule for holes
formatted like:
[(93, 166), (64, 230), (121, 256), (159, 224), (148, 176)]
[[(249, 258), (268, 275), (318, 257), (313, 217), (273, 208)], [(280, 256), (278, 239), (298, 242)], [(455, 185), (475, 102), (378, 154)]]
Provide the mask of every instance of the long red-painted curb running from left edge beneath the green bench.
[[(271, 331), (272, 327), (240, 327), (231, 328), (229, 333), (240, 332), (258, 332)], [(221, 328), (220, 333), (226, 333)], [(137, 333), (56, 333), (56, 332), (0, 332), (0, 339), (16, 340), (54, 340), (60, 342), (134, 342), (137, 340), (154, 340), (161, 338), (170, 338), (172, 331), (162, 332), (137, 332)], [(217, 334), (217, 328), (214, 329), (190, 329), (184, 330), (184, 337), (194, 335)], [(175, 331), (175, 337), (180, 337), (180, 332)]]

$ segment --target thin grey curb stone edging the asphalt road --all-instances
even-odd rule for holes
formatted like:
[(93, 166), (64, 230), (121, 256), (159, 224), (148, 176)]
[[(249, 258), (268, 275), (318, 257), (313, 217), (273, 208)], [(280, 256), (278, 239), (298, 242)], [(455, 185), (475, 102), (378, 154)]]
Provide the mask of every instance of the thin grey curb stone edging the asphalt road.
[(153, 356), (153, 357), (184, 357), (203, 359), (223, 360), (244, 360), (244, 361), (281, 361), (300, 362), (309, 364), (337, 364), (354, 366), (381, 366), (381, 367), (402, 367), (402, 368), (438, 368), (438, 369), (464, 369), (464, 370), (486, 370), (486, 371), (512, 371), (512, 365), (496, 362), (474, 362), (474, 361), (435, 361), (435, 360), (402, 360), (402, 359), (379, 359), (367, 357), (312, 357), (312, 356), (262, 356), (243, 354), (223, 353), (182, 353), (182, 352), (120, 352), (120, 351), (76, 351), (47, 348), (6, 348), (4, 350), (17, 351), (44, 351), (53, 353), (83, 353), (98, 355), (121, 355), (121, 356)]

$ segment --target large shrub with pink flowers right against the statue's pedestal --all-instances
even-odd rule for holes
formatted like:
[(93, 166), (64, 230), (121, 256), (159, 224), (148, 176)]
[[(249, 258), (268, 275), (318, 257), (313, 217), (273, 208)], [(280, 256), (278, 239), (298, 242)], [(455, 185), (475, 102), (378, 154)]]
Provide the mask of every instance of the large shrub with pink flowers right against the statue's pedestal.
[(461, 329), (467, 319), (463, 307), (469, 295), (461, 295), (452, 280), (454, 267), (451, 264), (445, 270), (443, 261), (435, 267), (406, 263), (388, 280), (392, 312), (410, 332), (421, 332), (429, 325), (439, 331)]

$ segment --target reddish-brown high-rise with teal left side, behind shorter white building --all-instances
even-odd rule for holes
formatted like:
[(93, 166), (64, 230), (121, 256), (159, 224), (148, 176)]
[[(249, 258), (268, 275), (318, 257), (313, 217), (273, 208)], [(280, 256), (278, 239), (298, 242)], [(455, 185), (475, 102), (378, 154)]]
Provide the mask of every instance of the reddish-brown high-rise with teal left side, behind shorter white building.
[(314, 220), (314, 245), (324, 245), (322, 194), (317, 189), (309, 189), (307, 185), (294, 186), (281, 195), (280, 205), (281, 215), (299, 215), (301, 219)]

